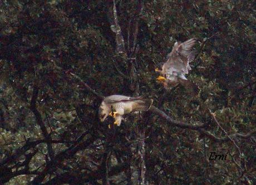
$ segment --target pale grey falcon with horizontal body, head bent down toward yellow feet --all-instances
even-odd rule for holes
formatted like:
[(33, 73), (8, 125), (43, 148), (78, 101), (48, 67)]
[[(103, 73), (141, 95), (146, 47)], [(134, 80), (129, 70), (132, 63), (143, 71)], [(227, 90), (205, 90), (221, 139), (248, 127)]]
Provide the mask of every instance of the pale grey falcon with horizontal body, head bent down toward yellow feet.
[(152, 99), (144, 97), (128, 97), (111, 95), (105, 97), (99, 108), (100, 121), (104, 122), (107, 116), (115, 118), (114, 124), (120, 126), (124, 114), (136, 111), (147, 111), (153, 103)]

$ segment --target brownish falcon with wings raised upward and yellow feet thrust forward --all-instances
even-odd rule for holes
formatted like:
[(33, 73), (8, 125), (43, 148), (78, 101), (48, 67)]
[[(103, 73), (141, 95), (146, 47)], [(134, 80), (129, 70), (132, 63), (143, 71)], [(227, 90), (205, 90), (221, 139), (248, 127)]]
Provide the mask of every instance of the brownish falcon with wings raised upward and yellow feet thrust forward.
[(171, 89), (181, 84), (189, 84), (185, 74), (188, 74), (191, 70), (189, 63), (195, 58), (195, 51), (193, 46), (196, 39), (191, 38), (183, 43), (176, 42), (173, 50), (168, 54), (167, 61), (162, 66), (162, 71), (156, 68), (156, 72), (159, 72), (157, 81), (164, 84), (166, 89)]

